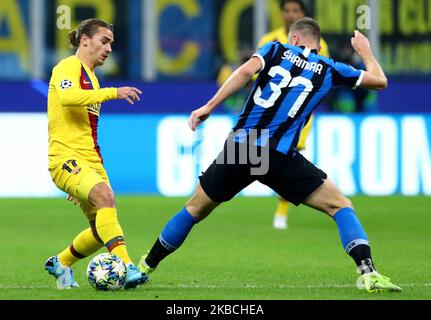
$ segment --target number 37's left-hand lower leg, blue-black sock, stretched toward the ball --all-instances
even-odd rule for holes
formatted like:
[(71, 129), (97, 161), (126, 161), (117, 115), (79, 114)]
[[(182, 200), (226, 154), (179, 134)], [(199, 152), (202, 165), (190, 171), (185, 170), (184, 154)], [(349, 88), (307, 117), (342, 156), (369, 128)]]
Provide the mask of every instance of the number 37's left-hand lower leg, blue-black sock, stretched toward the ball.
[(146, 274), (153, 272), (160, 261), (181, 246), (193, 226), (207, 217), (217, 205), (198, 184), (185, 207), (168, 221), (151, 250), (141, 257), (139, 270)]

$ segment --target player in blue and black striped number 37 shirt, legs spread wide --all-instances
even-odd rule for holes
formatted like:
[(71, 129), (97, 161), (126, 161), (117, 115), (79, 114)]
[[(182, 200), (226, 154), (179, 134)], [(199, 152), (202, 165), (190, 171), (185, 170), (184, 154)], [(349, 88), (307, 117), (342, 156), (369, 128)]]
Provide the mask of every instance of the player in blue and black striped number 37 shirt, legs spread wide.
[[(387, 86), (368, 39), (359, 31), (355, 31), (352, 46), (364, 61), (366, 71), (318, 55), (319, 43), (318, 23), (311, 18), (298, 20), (289, 30), (289, 44), (263, 45), (207, 104), (191, 113), (189, 126), (194, 131), (221, 102), (260, 72), (224, 150), (200, 176), (200, 183), (184, 208), (168, 221), (149, 253), (142, 256), (138, 265), (141, 271), (154, 271), (161, 260), (183, 243), (196, 223), (258, 180), (289, 202), (303, 203), (334, 220), (344, 250), (361, 272), (360, 289), (401, 291), (377, 272), (367, 235), (351, 201), (325, 172), (296, 149), (301, 129), (333, 87), (379, 90)], [(252, 149), (266, 154), (260, 163), (255, 161)], [(244, 150), (248, 153), (244, 154)]]

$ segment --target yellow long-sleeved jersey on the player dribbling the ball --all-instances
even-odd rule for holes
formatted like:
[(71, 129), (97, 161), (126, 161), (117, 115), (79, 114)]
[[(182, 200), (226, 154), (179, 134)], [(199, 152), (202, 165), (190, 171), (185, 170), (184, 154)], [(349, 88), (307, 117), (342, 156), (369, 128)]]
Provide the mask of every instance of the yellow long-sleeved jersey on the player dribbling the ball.
[(116, 98), (117, 88), (100, 89), (95, 74), (77, 56), (54, 67), (48, 90), (49, 169), (76, 158), (103, 163), (97, 142), (100, 108)]

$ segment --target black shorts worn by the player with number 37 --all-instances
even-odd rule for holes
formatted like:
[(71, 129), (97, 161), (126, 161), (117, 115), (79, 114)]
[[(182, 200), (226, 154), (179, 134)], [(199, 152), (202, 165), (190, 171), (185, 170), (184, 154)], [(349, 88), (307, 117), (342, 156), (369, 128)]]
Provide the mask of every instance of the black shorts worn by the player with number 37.
[[(225, 143), (223, 151), (199, 177), (203, 190), (215, 202), (229, 201), (242, 189), (257, 180), (297, 206), (304, 202), (327, 178), (325, 172), (299, 152), (285, 155), (271, 148), (263, 150), (263, 148), (257, 147), (258, 156), (267, 155), (268, 161), (265, 166), (262, 163), (256, 164), (256, 157), (251, 159), (246, 157), (245, 160), (243, 156), (241, 159), (239, 156), (241, 153), (238, 150), (243, 144), (232, 144), (235, 145), (235, 155), (231, 156), (232, 159), (228, 159), (228, 144)], [(266, 173), (262, 174), (265, 172), (265, 167), (267, 167)], [(253, 174), (252, 170), (254, 170)]]

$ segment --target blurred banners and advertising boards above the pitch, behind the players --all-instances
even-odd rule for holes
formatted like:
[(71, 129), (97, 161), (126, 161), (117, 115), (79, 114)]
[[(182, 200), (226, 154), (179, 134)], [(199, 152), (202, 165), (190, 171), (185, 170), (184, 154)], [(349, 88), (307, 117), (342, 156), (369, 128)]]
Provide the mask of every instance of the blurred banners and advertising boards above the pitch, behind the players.
[[(368, 6), (365, 32), (389, 76), (383, 92), (334, 91), (318, 110), (308, 157), (348, 195), (431, 194), (430, 1), (305, 2), (331, 56), (355, 66), (350, 36), (364, 25), (361, 6)], [(61, 196), (46, 169), (47, 83), (52, 67), (71, 54), (66, 34), (89, 17), (115, 27), (101, 85), (144, 92), (134, 106), (103, 105), (99, 139), (114, 189), (189, 195), (241, 106), (220, 108), (196, 135), (185, 119), (215, 92), (223, 64), (235, 65), (261, 35), (281, 26), (278, 1), (2, 0), (0, 197)], [(252, 185), (243, 194), (272, 192)]]

